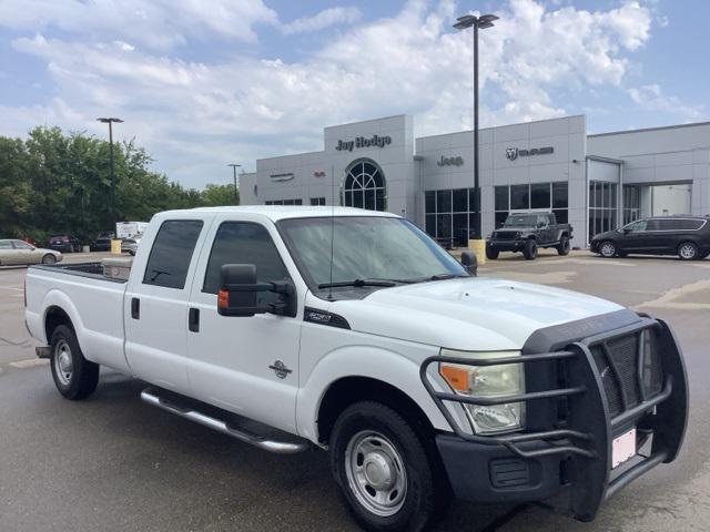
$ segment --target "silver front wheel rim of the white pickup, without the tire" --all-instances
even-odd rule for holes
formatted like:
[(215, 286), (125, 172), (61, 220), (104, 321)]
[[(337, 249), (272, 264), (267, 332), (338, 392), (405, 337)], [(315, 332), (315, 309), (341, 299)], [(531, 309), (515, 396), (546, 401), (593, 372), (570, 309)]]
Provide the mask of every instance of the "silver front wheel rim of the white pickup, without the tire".
[(375, 515), (394, 515), (404, 505), (407, 472), (383, 434), (365, 430), (353, 436), (345, 449), (345, 472), (357, 501)]

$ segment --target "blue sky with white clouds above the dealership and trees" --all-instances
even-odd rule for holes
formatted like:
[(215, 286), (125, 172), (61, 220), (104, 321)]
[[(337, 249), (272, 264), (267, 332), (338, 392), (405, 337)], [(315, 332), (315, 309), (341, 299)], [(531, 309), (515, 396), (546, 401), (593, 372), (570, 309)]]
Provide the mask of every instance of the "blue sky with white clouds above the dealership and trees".
[(202, 188), (227, 163), (323, 150), (394, 114), (415, 135), (586, 114), (590, 133), (710, 120), (706, 0), (0, 0), (0, 135), (119, 116), (153, 170)]

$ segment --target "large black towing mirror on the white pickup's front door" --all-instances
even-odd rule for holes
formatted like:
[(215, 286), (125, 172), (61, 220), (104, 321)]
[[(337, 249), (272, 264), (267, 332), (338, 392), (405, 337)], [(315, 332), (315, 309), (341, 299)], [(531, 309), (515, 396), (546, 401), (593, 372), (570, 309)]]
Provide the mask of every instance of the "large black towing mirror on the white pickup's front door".
[[(258, 305), (260, 291), (273, 291), (281, 297), (276, 303)], [(220, 270), (217, 313), (222, 316), (250, 317), (272, 313), (280, 316), (296, 315), (296, 290), (288, 280), (258, 283), (253, 264), (224, 264)]]

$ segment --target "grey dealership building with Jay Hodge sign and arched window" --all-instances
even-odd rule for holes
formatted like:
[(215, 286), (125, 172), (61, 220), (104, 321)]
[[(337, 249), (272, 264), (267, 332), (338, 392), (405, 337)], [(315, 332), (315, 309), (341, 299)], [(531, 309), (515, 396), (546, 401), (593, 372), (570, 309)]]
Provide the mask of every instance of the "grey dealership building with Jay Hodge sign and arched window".
[[(324, 129), (324, 149), (256, 161), (242, 204), (346, 205), (407, 217), (440, 242), (474, 232), (474, 134), (414, 136), (412, 116)], [(638, 217), (710, 214), (710, 122), (588, 134), (584, 115), (481, 129), (481, 234), (552, 212), (572, 245)]]

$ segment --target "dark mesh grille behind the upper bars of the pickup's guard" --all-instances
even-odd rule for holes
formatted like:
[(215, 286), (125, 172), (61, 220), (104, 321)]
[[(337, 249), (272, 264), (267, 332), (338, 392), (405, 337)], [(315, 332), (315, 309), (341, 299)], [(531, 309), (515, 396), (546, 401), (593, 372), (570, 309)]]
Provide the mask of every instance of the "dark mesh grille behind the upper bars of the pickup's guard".
[[(639, 349), (639, 341), (643, 342), (642, 349)], [(641, 379), (638, 378), (639, 354), (643, 357)], [(611, 416), (625, 410), (625, 399), (629, 409), (639, 405), (643, 395), (649, 398), (661, 391), (663, 370), (660, 342), (653, 329), (595, 345), (591, 355), (601, 376)]]

